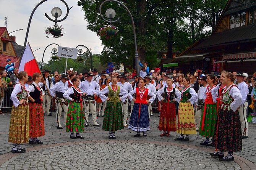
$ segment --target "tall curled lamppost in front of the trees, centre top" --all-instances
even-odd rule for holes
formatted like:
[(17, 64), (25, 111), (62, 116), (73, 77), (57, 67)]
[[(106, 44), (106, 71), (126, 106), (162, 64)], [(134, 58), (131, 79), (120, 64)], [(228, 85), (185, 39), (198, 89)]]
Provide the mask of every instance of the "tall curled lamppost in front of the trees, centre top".
[(137, 41), (136, 41), (135, 26), (134, 26), (133, 16), (131, 15), (131, 12), (128, 10), (128, 8), (127, 8), (125, 5), (123, 5), (123, 3), (121, 3), (121, 2), (119, 2), (119, 1), (117, 1), (117, 0), (105, 0), (104, 2), (102, 2), (102, 3), (100, 4), (100, 7), (99, 7), (100, 17), (101, 17), (104, 21), (106, 21), (106, 22), (108, 22), (108, 23), (110, 23), (110, 24), (111, 24), (112, 22), (117, 22), (117, 21), (120, 20), (120, 17), (119, 17), (119, 18), (117, 18), (117, 20), (112, 21), (112, 19), (115, 17), (115, 10), (113, 10), (112, 8), (108, 9), (108, 10), (106, 11), (106, 13), (105, 13), (106, 16), (107, 16), (107, 18), (109, 18), (109, 21), (106, 20), (106, 19), (102, 16), (102, 14), (101, 14), (101, 8), (102, 8), (103, 4), (106, 3), (106, 2), (112, 2), (112, 1), (113, 1), (113, 2), (117, 2), (117, 3), (119, 3), (120, 5), (122, 5), (122, 6), (126, 9), (126, 11), (128, 11), (128, 13), (129, 13), (129, 15), (130, 15), (130, 17), (131, 17), (131, 23), (132, 23), (132, 25), (133, 25), (134, 46), (135, 46), (135, 68), (136, 68), (136, 71), (137, 71), (137, 75), (139, 75), (139, 54), (138, 54), (138, 50), (137, 50)]

